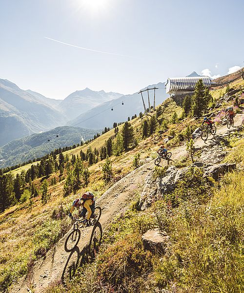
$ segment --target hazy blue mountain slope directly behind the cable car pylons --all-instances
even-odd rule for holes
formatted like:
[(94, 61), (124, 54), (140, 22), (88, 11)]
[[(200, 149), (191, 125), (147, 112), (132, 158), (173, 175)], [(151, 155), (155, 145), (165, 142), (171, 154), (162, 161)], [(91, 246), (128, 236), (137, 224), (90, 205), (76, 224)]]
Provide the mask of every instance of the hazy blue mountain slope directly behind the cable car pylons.
[[(159, 88), (156, 90), (156, 105), (160, 105), (168, 95), (165, 93), (164, 83), (148, 85), (149, 88), (154, 86)], [(149, 94), (150, 104), (153, 105), (153, 91), (150, 91)], [(143, 99), (148, 107), (147, 92), (143, 93)], [(111, 111), (112, 107), (113, 111)], [(140, 112), (144, 112), (142, 97), (141, 94), (134, 93), (103, 103), (68, 122), (68, 125), (92, 129), (111, 127), (114, 122), (126, 121), (128, 117), (138, 115)]]

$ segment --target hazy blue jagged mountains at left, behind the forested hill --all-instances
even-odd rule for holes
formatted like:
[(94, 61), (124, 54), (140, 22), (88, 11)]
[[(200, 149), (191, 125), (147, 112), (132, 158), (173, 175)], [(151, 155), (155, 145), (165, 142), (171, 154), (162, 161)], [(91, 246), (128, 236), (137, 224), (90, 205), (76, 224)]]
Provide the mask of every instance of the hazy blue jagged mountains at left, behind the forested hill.
[(122, 94), (86, 88), (64, 100), (55, 100), (0, 79), (0, 146), (33, 133), (64, 126), (92, 107), (120, 96)]

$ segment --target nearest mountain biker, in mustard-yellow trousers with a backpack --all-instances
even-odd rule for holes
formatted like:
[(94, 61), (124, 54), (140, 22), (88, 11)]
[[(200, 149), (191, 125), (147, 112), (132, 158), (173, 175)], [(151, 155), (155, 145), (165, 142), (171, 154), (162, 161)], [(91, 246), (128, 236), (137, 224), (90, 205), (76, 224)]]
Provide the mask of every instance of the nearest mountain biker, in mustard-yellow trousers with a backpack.
[[(86, 226), (90, 226), (90, 218), (94, 218), (95, 210), (95, 200), (93, 193), (87, 191), (81, 196), (81, 198), (76, 198), (73, 201), (72, 207), (69, 211), (69, 217), (72, 217), (72, 212), (75, 208), (79, 209), (79, 214), (84, 219), (82, 223), (86, 224)], [(87, 217), (85, 217), (86, 212), (88, 212)]]

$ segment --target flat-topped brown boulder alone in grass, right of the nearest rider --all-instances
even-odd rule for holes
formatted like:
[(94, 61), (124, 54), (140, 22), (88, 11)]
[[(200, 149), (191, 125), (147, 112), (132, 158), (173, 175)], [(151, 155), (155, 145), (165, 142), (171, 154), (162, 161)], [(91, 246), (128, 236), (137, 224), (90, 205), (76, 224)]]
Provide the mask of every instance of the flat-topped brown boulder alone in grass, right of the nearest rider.
[(149, 250), (153, 253), (164, 252), (168, 239), (168, 234), (165, 231), (160, 232), (159, 229), (148, 230), (142, 235), (142, 242), (145, 250)]

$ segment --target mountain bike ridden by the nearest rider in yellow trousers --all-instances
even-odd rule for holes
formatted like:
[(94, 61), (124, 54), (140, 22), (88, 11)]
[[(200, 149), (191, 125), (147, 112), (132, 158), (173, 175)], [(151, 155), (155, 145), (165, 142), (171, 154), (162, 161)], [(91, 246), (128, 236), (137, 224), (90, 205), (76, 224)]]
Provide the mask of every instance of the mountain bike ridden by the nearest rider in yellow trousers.
[[(96, 207), (94, 210), (94, 218), (91, 218), (87, 223), (83, 223), (84, 219), (76, 219), (75, 217), (71, 217), (72, 220), (75, 221), (73, 230), (69, 233), (67, 239), (64, 243), (64, 250), (70, 252), (77, 246), (80, 238), (81, 238), (81, 230), (89, 226), (95, 226), (95, 224), (99, 221), (102, 209), (101, 207)], [(79, 224), (81, 224), (79, 226)]]

